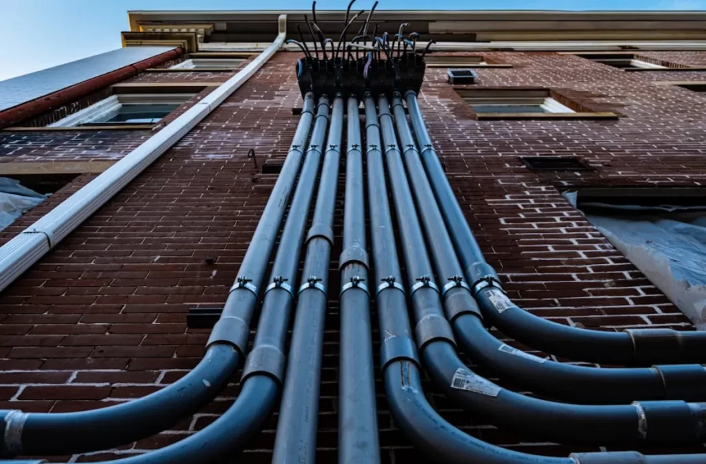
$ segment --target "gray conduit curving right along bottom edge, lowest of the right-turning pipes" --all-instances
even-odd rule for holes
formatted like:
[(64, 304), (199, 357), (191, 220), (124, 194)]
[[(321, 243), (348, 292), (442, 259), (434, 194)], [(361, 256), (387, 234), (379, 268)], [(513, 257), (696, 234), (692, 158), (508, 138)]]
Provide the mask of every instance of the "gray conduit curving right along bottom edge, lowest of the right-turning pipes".
[[(381, 369), (385, 378), (385, 393), (397, 427), (412, 444), (424, 451), (429, 459), (443, 464), (695, 464), (706, 462), (706, 455), (642, 456), (630, 452), (580, 453), (570, 458), (534, 456), (506, 450), (469, 436), (443, 420), (426, 401), (419, 379), (419, 360), (409, 327), (405, 290), (400, 285), (400, 266), (395, 249), (395, 236), (390, 207), (385, 190), (382, 154), (374, 133), (375, 104), (366, 95), (366, 126), (368, 126), (367, 172), (369, 186), (371, 237), (376, 280), (377, 308), (381, 344)], [(395, 150), (394, 133), (388, 131), (385, 146)], [(377, 146), (374, 146), (377, 145)], [(405, 244), (402, 239), (402, 244)], [(409, 246), (407, 244), (407, 246)], [(420, 249), (419, 252), (423, 252)], [(627, 458), (633, 460), (625, 460)], [(645, 460), (635, 460), (638, 457)], [(700, 459), (700, 460), (698, 460)]]

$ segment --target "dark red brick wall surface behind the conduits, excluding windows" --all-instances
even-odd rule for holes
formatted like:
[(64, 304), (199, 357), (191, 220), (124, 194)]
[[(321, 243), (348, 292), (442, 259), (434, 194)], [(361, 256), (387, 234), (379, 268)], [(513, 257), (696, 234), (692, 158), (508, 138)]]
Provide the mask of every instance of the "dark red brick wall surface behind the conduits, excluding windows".
[[(582, 105), (608, 107), (622, 115), (617, 121), (477, 121), (445, 83), (445, 69), (428, 71), (420, 97), (422, 112), (469, 223), (510, 296), (534, 314), (559, 323), (609, 331), (637, 326), (691, 328), (559, 189), (702, 184), (706, 96), (651, 83), (687, 80), (686, 75), (692, 74), (696, 79), (702, 73), (629, 73), (552, 53), (486, 55), (514, 67), (479, 70), (478, 86), (551, 88), (580, 99)], [(706, 53), (695, 52), (650, 55), (683, 64), (706, 59)], [(298, 58), (299, 54), (275, 56), (0, 295), (0, 369), (4, 369), (0, 408), (44, 412), (100, 408), (151, 393), (198, 362), (207, 333), (187, 330), (185, 313), (189, 307), (225, 301), (275, 180), (256, 172), (246, 153), (254, 148), (258, 160), (285, 155), (297, 124), (291, 109), (301, 105), (292, 72)], [(205, 73), (145, 73), (134, 81), (181, 79), (177, 77), (181, 74), (205, 77)], [(96, 157), (80, 149), (84, 143), (117, 145), (114, 153), (119, 157), (149, 135), (149, 131), (129, 136), (110, 131), (1, 133), (0, 161)], [(521, 155), (559, 154), (580, 155), (596, 171), (536, 174), (518, 160)], [(25, 215), (21, 225), (89, 179), (77, 179)], [(340, 237), (341, 201), (338, 206), (335, 232)], [(5, 239), (19, 230), (20, 225), (11, 227)], [(207, 257), (215, 262), (205, 262)], [(333, 268), (335, 264), (335, 276)], [(332, 279), (331, 288), (337, 280)], [(332, 295), (319, 420), (322, 463), (335, 462), (336, 455), (338, 324)], [(377, 333), (373, 338), (378, 339)], [(237, 379), (218, 400), (172, 431), (76, 459), (114, 458), (177, 441), (213, 422), (232, 403)], [(431, 382), (426, 381), (425, 387), (445, 418), (491, 443), (557, 456), (597, 451), (597, 447), (537, 443), (496, 429), (456, 408)], [(383, 462), (418, 458), (395, 429), (379, 381), (377, 392)], [(244, 456), (233, 462), (269, 463), (276, 422), (272, 417)]]

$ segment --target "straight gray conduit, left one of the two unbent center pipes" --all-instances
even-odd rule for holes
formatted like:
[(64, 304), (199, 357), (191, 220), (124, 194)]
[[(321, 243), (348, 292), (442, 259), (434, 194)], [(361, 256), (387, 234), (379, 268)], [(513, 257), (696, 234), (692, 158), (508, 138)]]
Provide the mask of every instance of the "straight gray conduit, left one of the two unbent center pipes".
[(337, 94), (333, 102), (328, 142), (323, 145), (322, 140), (319, 144), (321, 147), (327, 146), (328, 150), (324, 155), (311, 228), (306, 236), (304, 273), (289, 346), (285, 391), (277, 421), (272, 460), (275, 464), (313, 464), (316, 460), (318, 392), (342, 126), (343, 96)]

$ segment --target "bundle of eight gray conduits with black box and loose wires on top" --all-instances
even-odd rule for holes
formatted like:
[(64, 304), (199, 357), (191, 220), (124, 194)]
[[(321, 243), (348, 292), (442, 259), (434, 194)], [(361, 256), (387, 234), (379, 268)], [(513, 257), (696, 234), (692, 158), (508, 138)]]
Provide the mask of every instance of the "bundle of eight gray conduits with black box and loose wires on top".
[[(353, 3), (337, 42), (323, 37), (316, 3), (313, 19), (305, 17), (313, 53), (301, 31), (301, 41), (290, 41), (304, 52), (296, 68), (304, 97), (299, 125), (202, 362), (171, 386), (130, 403), (61, 414), (1, 411), (1, 456), (6, 459), (0, 464), (41, 463), (11, 458), (98, 451), (167, 429), (215, 398), (243, 359), (241, 393), (213, 424), (158, 451), (110, 462), (222, 460), (261, 430), (281, 394), (273, 463), (313, 464), (342, 154), (343, 251), (338, 258), (341, 287), (335, 289), (341, 313), (340, 463), (381, 462), (372, 298), (390, 410), (397, 427), (433, 462), (706, 463), (706, 454), (616, 451), (555, 458), (510, 451), (465, 434), (427, 403), (421, 369), (470, 414), (538, 439), (623, 447), (700, 444), (706, 435), (706, 403), (698, 400), (706, 398), (706, 370), (698, 363), (706, 362), (706, 335), (666, 329), (590, 331), (546, 321), (510, 302), (474, 239), (421, 116), (417, 95), (431, 42), (418, 49), (419, 34), (402, 35), (406, 24), (391, 40), (387, 33), (377, 35), (378, 25), (368, 35), (377, 3), (348, 41), (347, 31), (364, 13), (349, 20)], [(265, 281), (280, 229), (280, 245)], [(304, 272), (298, 276), (301, 259)], [(293, 285), (297, 278), (299, 286)], [(247, 353), (258, 302), (260, 318)], [(293, 309), (292, 340), (285, 354)], [(582, 367), (535, 357), (501, 343), (489, 332), (491, 327), (554, 355), (628, 367)], [(515, 393), (479, 376), (457, 350), (548, 399)], [(693, 364), (676, 364), (680, 362)]]

